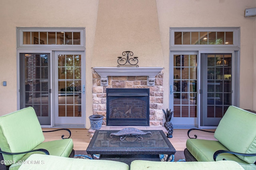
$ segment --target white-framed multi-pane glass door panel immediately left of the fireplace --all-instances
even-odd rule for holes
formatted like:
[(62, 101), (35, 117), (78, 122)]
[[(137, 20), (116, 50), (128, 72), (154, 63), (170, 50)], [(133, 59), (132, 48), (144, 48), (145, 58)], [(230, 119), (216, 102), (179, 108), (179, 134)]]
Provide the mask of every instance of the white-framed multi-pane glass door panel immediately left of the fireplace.
[[(55, 61), (58, 64), (58, 81), (56, 92), (58, 95), (58, 109), (55, 113), (56, 124), (83, 124), (81, 117), (83, 94), (82, 83), (82, 55), (74, 53), (56, 53)], [(55, 67), (56, 68), (56, 67)], [(57, 90), (58, 89), (58, 90)]]

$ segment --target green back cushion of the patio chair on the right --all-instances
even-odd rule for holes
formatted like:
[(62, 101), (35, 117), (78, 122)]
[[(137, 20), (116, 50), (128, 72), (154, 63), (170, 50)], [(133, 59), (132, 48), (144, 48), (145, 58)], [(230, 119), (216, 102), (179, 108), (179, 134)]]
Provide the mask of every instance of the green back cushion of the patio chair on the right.
[[(214, 137), (233, 152), (256, 153), (256, 114), (235, 106), (228, 107)], [(253, 164), (256, 156), (238, 156)]]

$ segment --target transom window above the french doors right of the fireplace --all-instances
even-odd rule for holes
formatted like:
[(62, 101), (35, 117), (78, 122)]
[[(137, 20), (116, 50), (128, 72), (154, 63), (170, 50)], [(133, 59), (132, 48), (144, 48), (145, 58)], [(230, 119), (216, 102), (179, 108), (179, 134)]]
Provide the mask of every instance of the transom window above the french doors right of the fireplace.
[(238, 49), (239, 28), (170, 28), (170, 48), (228, 47)]

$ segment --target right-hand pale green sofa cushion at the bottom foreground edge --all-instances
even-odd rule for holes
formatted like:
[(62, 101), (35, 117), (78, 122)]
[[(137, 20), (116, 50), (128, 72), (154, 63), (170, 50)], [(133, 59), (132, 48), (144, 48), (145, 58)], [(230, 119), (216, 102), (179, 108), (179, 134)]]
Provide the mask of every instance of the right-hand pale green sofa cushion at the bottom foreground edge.
[(218, 162), (153, 162), (134, 160), (130, 170), (244, 170), (234, 161)]

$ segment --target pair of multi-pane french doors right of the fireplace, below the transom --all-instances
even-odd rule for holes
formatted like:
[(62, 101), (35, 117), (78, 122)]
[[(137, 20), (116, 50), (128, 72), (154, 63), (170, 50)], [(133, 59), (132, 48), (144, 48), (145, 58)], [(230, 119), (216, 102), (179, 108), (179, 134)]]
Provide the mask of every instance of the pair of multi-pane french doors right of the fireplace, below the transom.
[(170, 56), (174, 126), (218, 126), (228, 107), (237, 103), (232, 90), (234, 53), (171, 51)]

